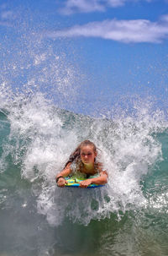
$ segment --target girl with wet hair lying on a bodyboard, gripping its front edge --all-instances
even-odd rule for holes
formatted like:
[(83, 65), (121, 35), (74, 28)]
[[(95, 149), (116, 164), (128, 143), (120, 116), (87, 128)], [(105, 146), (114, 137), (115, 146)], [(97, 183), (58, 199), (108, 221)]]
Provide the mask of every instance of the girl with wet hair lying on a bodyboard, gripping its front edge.
[(79, 178), (87, 178), (80, 182), (81, 188), (87, 188), (90, 184), (103, 185), (108, 182), (108, 172), (102, 171), (102, 163), (96, 161), (97, 148), (90, 140), (84, 140), (70, 155), (66, 166), (56, 176), (56, 183), (64, 187), (70, 174), (80, 175)]

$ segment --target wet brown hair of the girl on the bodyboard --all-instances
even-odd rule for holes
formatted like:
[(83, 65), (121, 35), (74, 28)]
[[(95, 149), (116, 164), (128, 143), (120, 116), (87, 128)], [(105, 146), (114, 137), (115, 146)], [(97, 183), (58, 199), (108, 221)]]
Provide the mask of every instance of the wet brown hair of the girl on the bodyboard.
[(72, 163), (73, 161), (80, 161), (81, 157), (81, 148), (84, 147), (84, 146), (87, 146), (87, 145), (90, 145), (92, 146), (92, 149), (94, 151), (94, 153), (97, 153), (97, 147), (94, 143), (92, 143), (92, 141), (90, 140), (84, 140), (81, 142), (81, 144), (79, 144), (76, 148), (76, 150), (74, 150), (73, 153), (71, 153), (70, 157), (69, 157), (69, 160), (66, 162), (66, 165), (65, 167), (69, 164), (69, 163)]

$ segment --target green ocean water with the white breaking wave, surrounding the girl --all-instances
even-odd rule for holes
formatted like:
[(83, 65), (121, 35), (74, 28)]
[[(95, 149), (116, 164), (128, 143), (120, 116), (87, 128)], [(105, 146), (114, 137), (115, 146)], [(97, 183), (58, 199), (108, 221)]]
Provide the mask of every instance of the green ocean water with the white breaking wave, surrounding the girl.
[[(160, 110), (93, 118), (42, 93), (1, 89), (0, 255), (168, 255), (168, 129)], [(71, 151), (91, 139), (104, 188), (58, 188)]]

